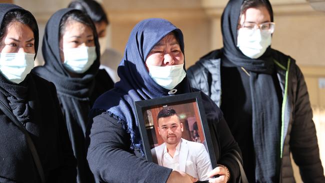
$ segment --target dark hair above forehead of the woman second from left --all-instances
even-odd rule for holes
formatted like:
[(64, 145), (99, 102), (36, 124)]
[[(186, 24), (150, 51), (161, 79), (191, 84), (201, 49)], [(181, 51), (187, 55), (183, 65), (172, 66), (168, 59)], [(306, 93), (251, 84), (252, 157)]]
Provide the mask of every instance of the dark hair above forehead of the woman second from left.
[(71, 20), (75, 20), (89, 26), (92, 29), (93, 34), (97, 35), (96, 28), (94, 27), (93, 22), (89, 16), (78, 9), (73, 9), (62, 16), (59, 26), (60, 36), (64, 34), (65, 26)]

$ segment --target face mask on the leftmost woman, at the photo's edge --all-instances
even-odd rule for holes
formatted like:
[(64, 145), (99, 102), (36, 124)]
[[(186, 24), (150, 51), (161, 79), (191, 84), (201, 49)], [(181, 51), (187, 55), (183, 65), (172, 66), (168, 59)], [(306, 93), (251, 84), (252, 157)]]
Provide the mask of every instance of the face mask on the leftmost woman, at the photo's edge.
[(34, 67), (35, 53), (0, 53), (0, 72), (11, 82), (20, 83)]

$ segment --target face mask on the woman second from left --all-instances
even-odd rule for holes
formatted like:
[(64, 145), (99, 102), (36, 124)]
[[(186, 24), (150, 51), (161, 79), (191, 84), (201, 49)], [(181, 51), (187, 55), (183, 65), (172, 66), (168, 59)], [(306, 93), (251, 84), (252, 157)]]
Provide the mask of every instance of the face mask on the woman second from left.
[(96, 47), (76, 47), (64, 48), (64, 67), (76, 73), (83, 73), (89, 69), (94, 60), (97, 58)]

